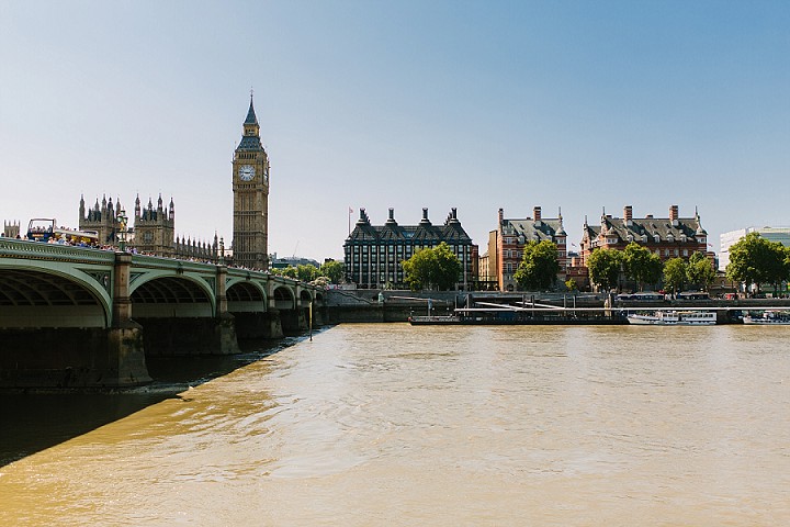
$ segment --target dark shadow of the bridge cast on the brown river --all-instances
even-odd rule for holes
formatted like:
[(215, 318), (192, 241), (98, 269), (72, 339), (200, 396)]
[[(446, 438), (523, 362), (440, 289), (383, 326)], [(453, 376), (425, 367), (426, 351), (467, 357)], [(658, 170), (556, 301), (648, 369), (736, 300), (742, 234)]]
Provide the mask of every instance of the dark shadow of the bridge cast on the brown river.
[(240, 341), (241, 354), (200, 357), (147, 357), (154, 382), (134, 389), (90, 393), (0, 392), (0, 467), (122, 419), (212, 379), (304, 340)]

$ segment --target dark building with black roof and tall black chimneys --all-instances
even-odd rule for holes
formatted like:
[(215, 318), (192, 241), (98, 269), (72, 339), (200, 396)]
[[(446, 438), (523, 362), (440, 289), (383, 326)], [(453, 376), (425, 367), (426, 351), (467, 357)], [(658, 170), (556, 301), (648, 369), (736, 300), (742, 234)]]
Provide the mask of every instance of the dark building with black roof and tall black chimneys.
[(364, 209), (353, 231), (343, 244), (346, 280), (358, 288), (405, 288), (400, 262), (408, 260), (419, 249), (437, 247), (442, 242), (459, 258), (462, 277), (459, 287), (469, 289), (477, 277), (477, 246), (466, 234), (452, 209), (443, 225), (433, 225), (428, 209), (422, 209), (422, 220), (417, 225), (398, 225), (395, 212), (384, 225), (372, 225)]

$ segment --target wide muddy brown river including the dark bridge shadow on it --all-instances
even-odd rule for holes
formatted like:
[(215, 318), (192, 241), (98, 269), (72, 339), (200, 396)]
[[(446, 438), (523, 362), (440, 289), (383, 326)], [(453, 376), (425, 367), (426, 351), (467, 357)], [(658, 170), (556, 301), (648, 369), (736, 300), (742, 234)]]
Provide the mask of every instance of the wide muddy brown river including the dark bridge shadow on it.
[(0, 395), (0, 525), (787, 525), (789, 337), (343, 324), (194, 388)]

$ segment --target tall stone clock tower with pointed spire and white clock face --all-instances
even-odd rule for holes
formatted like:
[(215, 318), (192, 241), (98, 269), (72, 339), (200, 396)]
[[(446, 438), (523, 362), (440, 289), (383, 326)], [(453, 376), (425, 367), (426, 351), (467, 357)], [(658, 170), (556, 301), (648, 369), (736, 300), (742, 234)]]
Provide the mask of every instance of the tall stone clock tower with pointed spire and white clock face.
[(233, 161), (233, 259), (249, 269), (269, 268), (269, 156), (260, 142), (260, 126), (252, 108)]

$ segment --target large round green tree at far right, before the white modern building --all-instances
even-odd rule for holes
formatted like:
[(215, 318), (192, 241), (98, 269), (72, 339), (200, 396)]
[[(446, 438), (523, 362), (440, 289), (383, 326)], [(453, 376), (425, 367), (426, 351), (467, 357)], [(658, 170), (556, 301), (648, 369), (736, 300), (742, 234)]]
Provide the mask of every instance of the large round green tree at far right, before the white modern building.
[(759, 233), (749, 233), (730, 247), (727, 280), (753, 283), (779, 284), (789, 277), (788, 251), (778, 242), (769, 242)]

